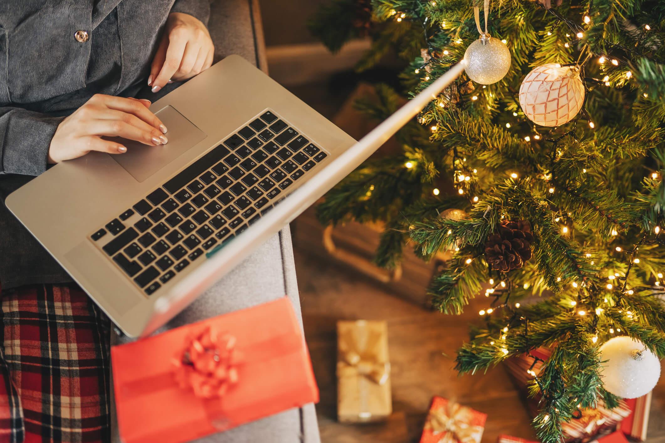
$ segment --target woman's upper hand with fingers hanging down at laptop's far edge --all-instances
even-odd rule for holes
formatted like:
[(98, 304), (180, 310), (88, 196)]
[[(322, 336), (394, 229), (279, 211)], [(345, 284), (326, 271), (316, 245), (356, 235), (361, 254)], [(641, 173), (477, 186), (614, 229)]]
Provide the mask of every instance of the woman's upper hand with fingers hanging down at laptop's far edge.
[(212, 64), (214, 48), (207, 28), (199, 19), (170, 13), (152, 60), (148, 86), (152, 86), (152, 92), (158, 92), (169, 80), (186, 80), (203, 72)]

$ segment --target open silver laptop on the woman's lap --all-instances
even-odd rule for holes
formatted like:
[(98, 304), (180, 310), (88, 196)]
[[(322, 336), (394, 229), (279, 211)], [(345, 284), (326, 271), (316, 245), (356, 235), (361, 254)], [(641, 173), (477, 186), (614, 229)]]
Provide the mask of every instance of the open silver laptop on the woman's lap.
[(229, 56), (150, 106), (169, 128), (166, 145), (126, 141), (122, 155), (92, 152), (59, 163), (5, 203), (126, 335), (148, 335), (463, 70), (460, 62), (356, 142)]

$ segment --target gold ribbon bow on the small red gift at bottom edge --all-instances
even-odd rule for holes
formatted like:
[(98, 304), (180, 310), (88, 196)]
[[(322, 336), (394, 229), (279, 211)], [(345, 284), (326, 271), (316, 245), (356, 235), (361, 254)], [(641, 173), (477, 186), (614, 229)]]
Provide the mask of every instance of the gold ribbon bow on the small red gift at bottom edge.
[(425, 428), (434, 435), (445, 433), (437, 443), (480, 443), (483, 427), (469, 424), (471, 416), (471, 409), (448, 402), (446, 408), (430, 410)]

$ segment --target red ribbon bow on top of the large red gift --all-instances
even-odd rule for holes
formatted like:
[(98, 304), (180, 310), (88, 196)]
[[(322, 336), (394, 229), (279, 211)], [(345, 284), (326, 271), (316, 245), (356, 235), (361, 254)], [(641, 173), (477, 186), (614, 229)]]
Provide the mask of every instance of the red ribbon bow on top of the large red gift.
[(196, 397), (223, 397), (238, 383), (237, 367), (241, 353), (235, 349), (235, 336), (207, 327), (174, 358), (178, 385), (191, 388)]

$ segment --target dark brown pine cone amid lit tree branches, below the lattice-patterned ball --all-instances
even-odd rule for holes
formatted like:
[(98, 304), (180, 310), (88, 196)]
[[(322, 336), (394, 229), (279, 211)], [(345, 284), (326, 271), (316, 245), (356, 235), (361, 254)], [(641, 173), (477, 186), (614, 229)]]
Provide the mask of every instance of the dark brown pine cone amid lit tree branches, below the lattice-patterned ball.
[(485, 242), (485, 260), (493, 270), (519, 269), (531, 258), (531, 224), (528, 221), (501, 222), (499, 232)]

